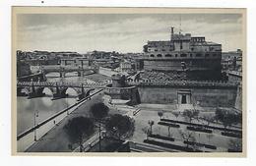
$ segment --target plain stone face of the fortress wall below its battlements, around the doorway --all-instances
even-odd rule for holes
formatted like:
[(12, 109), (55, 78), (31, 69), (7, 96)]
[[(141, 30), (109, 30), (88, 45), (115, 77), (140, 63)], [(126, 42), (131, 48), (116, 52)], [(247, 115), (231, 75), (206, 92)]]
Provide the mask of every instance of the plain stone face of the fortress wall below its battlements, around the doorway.
[(190, 89), (192, 103), (199, 103), (200, 106), (209, 107), (234, 107), (236, 99), (235, 88), (183, 88), (183, 87), (157, 87), (139, 86), (139, 95), (142, 103), (176, 104), (177, 91)]

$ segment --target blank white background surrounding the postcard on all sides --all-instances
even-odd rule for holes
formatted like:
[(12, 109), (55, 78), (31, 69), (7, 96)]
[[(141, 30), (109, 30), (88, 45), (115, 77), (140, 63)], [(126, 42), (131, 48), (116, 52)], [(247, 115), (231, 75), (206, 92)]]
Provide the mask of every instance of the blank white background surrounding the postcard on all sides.
[[(247, 8), (247, 158), (38, 157), (11, 156), (11, 6), (213, 7)], [(255, 165), (256, 3), (254, 0), (0, 0), (0, 158), (1, 165)], [(255, 71), (255, 72), (254, 72)]]

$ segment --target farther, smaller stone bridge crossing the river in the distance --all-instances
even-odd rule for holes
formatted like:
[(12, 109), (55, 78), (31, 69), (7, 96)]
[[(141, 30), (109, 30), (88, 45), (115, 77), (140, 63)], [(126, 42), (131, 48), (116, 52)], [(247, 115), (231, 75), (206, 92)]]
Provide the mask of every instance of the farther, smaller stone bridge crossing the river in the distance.
[(65, 78), (66, 73), (72, 73), (72, 72), (77, 72), (79, 77), (84, 76), (85, 73), (89, 71), (97, 73), (97, 68), (94, 66), (81, 67), (81, 66), (47, 65), (47, 66), (41, 66), (40, 70), (44, 75), (48, 73), (59, 73), (61, 78)]

